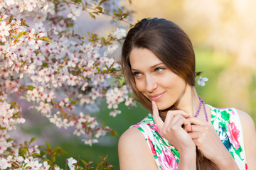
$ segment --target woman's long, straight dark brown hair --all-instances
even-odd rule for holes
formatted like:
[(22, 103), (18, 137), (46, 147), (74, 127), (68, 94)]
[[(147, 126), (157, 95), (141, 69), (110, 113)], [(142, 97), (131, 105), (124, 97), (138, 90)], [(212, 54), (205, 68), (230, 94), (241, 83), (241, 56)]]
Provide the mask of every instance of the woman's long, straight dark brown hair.
[[(134, 92), (134, 97), (152, 111), (151, 101), (136, 87), (129, 62), (130, 52), (135, 48), (146, 48), (154, 52), (172, 72), (184, 79), (190, 86), (195, 86), (195, 53), (188, 35), (175, 23), (163, 18), (142, 19), (127, 33), (122, 46), (122, 69), (124, 77)], [(175, 109), (175, 108), (169, 108)], [(159, 111), (164, 120), (166, 111)], [(213, 162), (203, 157), (197, 150), (197, 169), (218, 169)]]

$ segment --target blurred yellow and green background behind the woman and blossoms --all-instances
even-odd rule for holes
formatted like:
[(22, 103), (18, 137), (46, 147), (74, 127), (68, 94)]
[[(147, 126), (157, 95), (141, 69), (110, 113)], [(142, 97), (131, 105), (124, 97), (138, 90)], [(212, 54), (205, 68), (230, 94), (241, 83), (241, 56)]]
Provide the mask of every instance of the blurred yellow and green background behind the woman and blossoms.
[[(235, 107), (247, 112), (256, 122), (256, 1), (255, 0), (133, 0), (122, 2), (134, 11), (132, 23), (142, 18), (166, 18), (181, 26), (193, 42), (196, 52), (196, 70), (208, 77), (206, 86), (196, 86), (203, 100), (215, 107)], [(88, 24), (94, 21), (85, 14), (76, 31), (107, 29)], [(100, 22), (104, 18), (100, 18)], [(120, 49), (114, 53), (117, 60)], [(22, 101), (21, 101), (22, 102)], [(26, 103), (24, 103), (26, 104)], [(118, 135), (130, 125), (142, 120), (148, 111), (139, 103), (135, 108), (121, 106), (122, 114), (110, 117), (104, 102), (92, 115), (117, 131)], [(85, 161), (99, 161), (99, 155), (107, 156), (108, 163), (119, 169), (118, 137), (107, 135), (99, 144), (84, 145), (72, 130), (55, 128), (48, 120), (31, 110), (26, 112), (26, 126), (20, 126), (12, 135), (16, 140), (37, 137), (38, 145), (50, 142), (60, 146), (68, 154), (57, 157), (56, 163), (65, 169), (65, 159), (73, 157)]]

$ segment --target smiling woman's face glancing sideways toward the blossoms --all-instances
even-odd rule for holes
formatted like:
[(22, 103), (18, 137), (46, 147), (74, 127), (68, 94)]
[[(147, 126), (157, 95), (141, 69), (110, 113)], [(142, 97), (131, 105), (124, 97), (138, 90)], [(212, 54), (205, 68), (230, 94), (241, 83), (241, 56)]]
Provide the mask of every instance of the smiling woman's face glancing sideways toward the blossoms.
[(137, 89), (155, 101), (159, 110), (178, 104), (186, 91), (186, 82), (171, 72), (153, 52), (146, 48), (134, 48), (129, 61)]

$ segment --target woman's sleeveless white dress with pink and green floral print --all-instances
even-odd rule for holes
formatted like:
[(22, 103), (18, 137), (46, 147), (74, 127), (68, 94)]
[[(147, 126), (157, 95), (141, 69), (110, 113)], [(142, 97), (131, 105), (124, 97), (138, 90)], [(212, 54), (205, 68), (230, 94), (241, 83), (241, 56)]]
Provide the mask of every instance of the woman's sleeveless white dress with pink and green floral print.
[[(209, 106), (209, 105), (208, 105)], [(240, 170), (247, 170), (242, 127), (235, 108), (211, 108), (211, 123)], [(159, 169), (178, 169), (178, 150), (166, 140), (149, 114), (137, 125), (145, 137)]]

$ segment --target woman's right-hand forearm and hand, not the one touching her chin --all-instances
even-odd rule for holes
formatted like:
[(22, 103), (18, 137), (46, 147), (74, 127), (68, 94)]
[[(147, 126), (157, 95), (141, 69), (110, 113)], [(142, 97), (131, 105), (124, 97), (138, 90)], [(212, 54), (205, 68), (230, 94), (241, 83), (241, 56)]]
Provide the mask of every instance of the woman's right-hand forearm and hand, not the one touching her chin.
[(192, 124), (192, 132), (188, 132), (188, 135), (206, 158), (214, 162), (219, 169), (238, 169), (211, 123), (194, 117), (187, 120)]

